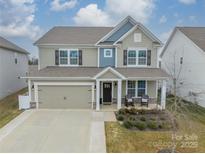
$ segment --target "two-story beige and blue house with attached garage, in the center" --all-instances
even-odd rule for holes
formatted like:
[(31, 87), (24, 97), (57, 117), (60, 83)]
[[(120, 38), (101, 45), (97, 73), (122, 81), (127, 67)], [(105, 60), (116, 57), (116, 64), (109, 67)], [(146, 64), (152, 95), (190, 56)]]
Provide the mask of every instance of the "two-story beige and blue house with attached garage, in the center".
[(168, 77), (157, 68), (160, 40), (130, 16), (115, 27), (54, 27), (35, 45), (38, 71), (25, 78), (37, 108), (119, 109), (127, 94), (156, 102), (157, 82)]

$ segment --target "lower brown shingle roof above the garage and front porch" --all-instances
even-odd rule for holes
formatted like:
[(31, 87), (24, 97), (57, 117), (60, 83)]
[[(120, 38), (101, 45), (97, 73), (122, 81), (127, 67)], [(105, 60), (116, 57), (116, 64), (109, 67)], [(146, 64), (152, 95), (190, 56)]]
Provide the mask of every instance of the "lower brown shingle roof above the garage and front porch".
[[(41, 70), (30, 68), (29, 77), (94, 77), (105, 68), (48, 66)], [(125, 77), (160, 78), (169, 75), (160, 68), (114, 68)]]

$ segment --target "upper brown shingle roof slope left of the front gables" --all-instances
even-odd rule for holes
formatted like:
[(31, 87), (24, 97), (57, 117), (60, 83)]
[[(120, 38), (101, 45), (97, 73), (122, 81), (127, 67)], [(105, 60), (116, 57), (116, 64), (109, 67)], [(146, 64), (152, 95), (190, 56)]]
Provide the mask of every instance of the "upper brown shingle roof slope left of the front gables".
[(34, 44), (85, 44), (93, 45), (113, 27), (58, 26), (49, 30)]

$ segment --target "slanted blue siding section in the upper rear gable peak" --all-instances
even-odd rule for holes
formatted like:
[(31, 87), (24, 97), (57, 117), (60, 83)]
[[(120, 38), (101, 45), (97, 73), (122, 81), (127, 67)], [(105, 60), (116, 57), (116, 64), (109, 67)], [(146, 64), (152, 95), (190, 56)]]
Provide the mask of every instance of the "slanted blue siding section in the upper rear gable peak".
[(125, 33), (127, 33), (134, 25), (129, 21), (125, 23), (120, 29), (118, 29), (114, 34), (112, 34), (105, 42), (115, 42)]

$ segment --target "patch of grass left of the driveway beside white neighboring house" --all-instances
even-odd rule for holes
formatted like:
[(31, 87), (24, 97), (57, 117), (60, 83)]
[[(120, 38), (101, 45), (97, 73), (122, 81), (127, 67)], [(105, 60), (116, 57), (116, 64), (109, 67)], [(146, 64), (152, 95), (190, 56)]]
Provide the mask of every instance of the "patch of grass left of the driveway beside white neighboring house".
[(25, 92), (27, 92), (27, 88), (0, 100), (0, 128), (23, 112), (18, 110), (18, 95)]

